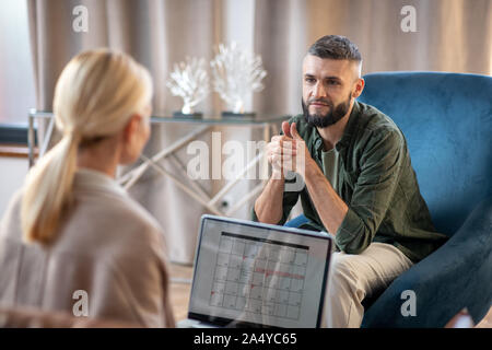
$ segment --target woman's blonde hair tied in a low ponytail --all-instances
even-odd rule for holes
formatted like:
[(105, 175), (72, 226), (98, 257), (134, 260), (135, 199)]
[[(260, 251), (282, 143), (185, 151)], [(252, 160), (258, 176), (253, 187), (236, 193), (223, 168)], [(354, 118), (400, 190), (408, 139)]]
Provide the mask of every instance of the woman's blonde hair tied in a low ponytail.
[(83, 52), (63, 69), (55, 90), (56, 126), (62, 139), (30, 171), (22, 197), (24, 241), (49, 244), (71, 208), (77, 153), (83, 140), (121, 130), (150, 104), (149, 72), (125, 54)]

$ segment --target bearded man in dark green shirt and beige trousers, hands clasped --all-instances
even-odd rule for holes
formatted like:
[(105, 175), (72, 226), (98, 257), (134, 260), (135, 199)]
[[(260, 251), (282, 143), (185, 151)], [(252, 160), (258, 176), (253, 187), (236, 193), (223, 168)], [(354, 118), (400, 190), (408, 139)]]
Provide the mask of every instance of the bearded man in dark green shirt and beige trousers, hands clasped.
[[(377, 295), (438, 246), (401, 130), (355, 101), (362, 58), (348, 38), (319, 38), (303, 62), (303, 112), (267, 145), (272, 176), (254, 220), (284, 224), (301, 197), (297, 226), (335, 238), (324, 323), (360, 327), (362, 301)], [(295, 178), (290, 176), (295, 175)], [(305, 186), (293, 186), (303, 180)], [(303, 185), (304, 185), (303, 183)]]

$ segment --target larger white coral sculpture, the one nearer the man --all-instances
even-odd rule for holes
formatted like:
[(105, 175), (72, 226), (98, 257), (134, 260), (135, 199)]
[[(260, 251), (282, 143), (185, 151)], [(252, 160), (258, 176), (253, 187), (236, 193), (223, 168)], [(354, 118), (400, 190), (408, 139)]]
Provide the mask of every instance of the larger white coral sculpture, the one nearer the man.
[(213, 89), (233, 113), (244, 113), (244, 102), (251, 92), (263, 89), (261, 80), (267, 75), (261, 57), (241, 49), (236, 43), (219, 45), (219, 54), (210, 62)]

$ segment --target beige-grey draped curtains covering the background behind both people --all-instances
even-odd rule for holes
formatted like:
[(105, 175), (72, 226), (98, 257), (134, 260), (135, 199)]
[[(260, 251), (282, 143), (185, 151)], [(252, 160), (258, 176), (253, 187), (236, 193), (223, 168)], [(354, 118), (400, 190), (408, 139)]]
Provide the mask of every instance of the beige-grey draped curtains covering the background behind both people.
[[(89, 32), (72, 30), (77, 5), (89, 10)], [(415, 9), (417, 32), (405, 33), (403, 5)], [(28, 0), (36, 86), (36, 108), (51, 109), (54, 88), (78, 52), (110, 47), (132, 55), (154, 78), (154, 112), (180, 108), (165, 80), (186, 56), (210, 61), (219, 43), (238, 40), (261, 55), (266, 89), (253, 95), (259, 114), (301, 110), (301, 65), (307, 47), (326, 34), (348, 36), (363, 55), (363, 73), (433, 70), (490, 74), (492, 2), (489, 0)], [(200, 105), (219, 113), (216, 94)], [(259, 139), (244, 129), (224, 131), (223, 141)], [(152, 154), (190, 131), (189, 126), (153, 128), (144, 153)], [(202, 138), (209, 141), (209, 137)], [(186, 153), (179, 154), (186, 162)], [(173, 164), (163, 163), (173, 171)], [(221, 182), (202, 184), (211, 192)], [(241, 199), (254, 184), (231, 194)], [(198, 219), (206, 210), (169, 179), (149, 171), (130, 190), (163, 225), (174, 261), (189, 264), (195, 254)], [(247, 218), (248, 210), (236, 214)]]

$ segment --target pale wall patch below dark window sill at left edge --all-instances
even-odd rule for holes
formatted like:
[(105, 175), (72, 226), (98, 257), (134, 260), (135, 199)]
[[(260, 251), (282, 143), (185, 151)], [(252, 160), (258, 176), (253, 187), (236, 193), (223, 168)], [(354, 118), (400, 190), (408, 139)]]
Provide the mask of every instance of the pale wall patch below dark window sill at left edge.
[(0, 156), (0, 217), (3, 217), (12, 195), (21, 188), (27, 168), (26, 158)]

